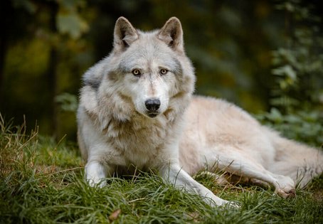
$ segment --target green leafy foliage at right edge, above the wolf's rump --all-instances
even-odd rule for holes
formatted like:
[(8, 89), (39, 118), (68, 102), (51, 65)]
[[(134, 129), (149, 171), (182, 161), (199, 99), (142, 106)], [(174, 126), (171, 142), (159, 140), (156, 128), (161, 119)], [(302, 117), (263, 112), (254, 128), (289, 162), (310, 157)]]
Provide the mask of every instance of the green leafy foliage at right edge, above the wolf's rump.
[(322, 18), (297, 0), (283, 1), (277, 9), (287, 17), (286, 46), (272, 53), (272, 109), (258, 118), (286, 137), (323, 146)]

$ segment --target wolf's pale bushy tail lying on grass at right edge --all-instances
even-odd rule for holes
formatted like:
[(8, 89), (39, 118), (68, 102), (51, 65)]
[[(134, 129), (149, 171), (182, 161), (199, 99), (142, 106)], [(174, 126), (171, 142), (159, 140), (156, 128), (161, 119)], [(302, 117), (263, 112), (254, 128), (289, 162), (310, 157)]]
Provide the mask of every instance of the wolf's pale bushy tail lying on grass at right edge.
[(269, 132), (276, 151), (275, 164), (270, 167), (272, 173), (290, 176), (300, 188), (323, 173), (322, 150), (285, 139), (271, 130)]

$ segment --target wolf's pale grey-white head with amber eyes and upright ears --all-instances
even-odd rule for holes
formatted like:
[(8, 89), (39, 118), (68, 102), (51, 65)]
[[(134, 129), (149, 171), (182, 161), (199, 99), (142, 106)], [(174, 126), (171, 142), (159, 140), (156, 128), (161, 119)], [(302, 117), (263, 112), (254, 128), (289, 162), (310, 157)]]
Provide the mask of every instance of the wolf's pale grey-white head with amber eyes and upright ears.
[(133, 108), (146, 117), (157, 117), (183, 108), (177, 104), (187, 105), (186, 98), (194, 90), (194, 68), (184, 53), (183, 31), (175, 17), (151, 32), (118, 18), (114, 48), (102, 63), (105, 75), (99, 95), (113, 96), (115, 104), (122, 101), (120, 112), (130, 113)]

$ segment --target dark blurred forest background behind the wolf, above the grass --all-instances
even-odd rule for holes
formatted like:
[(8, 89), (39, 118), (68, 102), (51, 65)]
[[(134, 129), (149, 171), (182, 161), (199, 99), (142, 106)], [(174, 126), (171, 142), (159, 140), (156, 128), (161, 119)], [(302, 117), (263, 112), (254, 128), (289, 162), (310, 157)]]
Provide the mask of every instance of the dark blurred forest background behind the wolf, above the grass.
[(287, 137), (322, 146), (319, 0), (1, 1), (1, 116), (75, 140), (81, 76), (112, 49), (119, 16), (143, 31), (177, 16), (196, 94), (225, 98)]

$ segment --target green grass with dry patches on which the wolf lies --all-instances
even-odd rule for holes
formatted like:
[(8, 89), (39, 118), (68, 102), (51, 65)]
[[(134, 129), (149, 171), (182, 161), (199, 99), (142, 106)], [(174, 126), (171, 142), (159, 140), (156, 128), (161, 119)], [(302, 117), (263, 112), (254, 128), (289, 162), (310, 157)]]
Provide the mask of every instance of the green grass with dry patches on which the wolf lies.
[(323, 223), (322, 177), (283, 199), (272, 190), (216, 186), (198, 176), (216, 195), (241, 203), (211, 208), (148, 173), (90, 188), (75, 144), (26, 134), (1, 119), (0, 129), (0, 223)]

